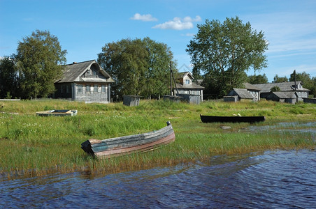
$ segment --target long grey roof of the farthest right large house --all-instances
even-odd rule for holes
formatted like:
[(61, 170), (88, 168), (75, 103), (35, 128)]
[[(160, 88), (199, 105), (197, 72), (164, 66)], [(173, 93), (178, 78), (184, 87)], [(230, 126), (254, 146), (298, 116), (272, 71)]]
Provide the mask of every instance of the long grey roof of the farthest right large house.
[[(296, 82), (296, 86), (299, 86), (301, 82)], [(261, 93), (268, 93), (271, 91), (271, 88), (274, 86), (278, 86), (280, 91), (294, 91), (295, 90), (295, 82), (282, 82), (282, 83), (269, 83), (269, 84), (253, 84), (257, 88), (261, 89)], [(310, 91), (307, 88), (296, 88), (296, 91)]]

